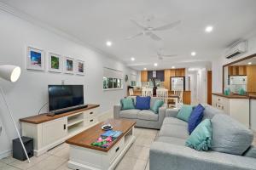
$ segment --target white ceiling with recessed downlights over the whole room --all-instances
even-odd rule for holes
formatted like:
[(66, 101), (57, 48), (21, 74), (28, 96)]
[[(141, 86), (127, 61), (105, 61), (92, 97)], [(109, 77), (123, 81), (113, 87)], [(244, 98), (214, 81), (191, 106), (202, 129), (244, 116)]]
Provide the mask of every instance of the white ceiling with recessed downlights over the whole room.
[[(30, 14), (49, 26), (78, 37), (124, 61), (134, 69), (148, 70), (209, 65), (231, 42), (243, 38), (256, 28), (255, 0), (0, 0)], [(154, 17), (151, 26), (162, 26), (181, 20), (169, 31), (155, 32), (162, 41), (149, 37), (126, 39), (140, 30), (131, 19), (146, 25), (145, 18)], [(204, 31), (213, 26), (211, 33)], [(113, 42), (106, 47), (105, 42)], [(177, 57), (156, 58), (156, 51)], [(195, 57), (190, 53), (195, 51)], [(131, 61), (131, 57), (136, 60)]]

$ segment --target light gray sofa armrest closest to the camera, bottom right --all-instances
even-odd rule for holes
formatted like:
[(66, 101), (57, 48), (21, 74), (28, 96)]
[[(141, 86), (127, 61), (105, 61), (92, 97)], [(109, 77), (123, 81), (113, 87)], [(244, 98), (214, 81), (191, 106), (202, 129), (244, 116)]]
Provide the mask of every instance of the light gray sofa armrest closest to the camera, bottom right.
[(197, 151), (189, 147), (154, 142), (149, 152), (150, 170), (256, 170), (256, 159), (215, 151)]

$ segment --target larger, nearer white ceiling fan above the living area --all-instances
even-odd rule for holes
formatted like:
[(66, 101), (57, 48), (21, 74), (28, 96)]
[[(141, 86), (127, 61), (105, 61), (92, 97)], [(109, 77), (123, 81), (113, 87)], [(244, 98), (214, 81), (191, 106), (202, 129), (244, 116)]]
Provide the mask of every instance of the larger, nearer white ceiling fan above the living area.
[[(147, 21), (150, 21), (150, 19), (148, 19)], [(173, 27), (179, 25), (181, 23), (180, 20), (177, 20), (175, 22), (172, 22), (170, 24), (166, 24), (164, 26), (158, 26), (158, 27), (152, 27), (152, 26), (143, 26), (143, 24), (140, 24), (138, 23), (136, 20), (131, 20), (131, 22), (139, 27), (140, 29), (142, 29), (141, 32), (137, 33), (136, 35), (134, 36), (131, 36), (131, 37), (127, 37), (128, 39), (131, 39), (131, 38), (135, 38), (135, 37), (140, 37), (140, 36), (148, 36), (148, 37), (151, 37), (153, 40), (155, 41), (160, 41), (162, 38), (160, 38), (159, 36), (157, 36), (154, 31), (165, 31), (165, 30), (170, 30), (172, 29)]]

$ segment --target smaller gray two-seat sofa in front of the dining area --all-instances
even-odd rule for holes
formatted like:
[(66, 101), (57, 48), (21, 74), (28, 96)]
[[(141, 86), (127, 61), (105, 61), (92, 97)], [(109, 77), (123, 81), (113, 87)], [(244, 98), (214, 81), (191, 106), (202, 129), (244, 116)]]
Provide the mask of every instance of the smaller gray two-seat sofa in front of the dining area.
[[(134, 99), (134, 102), (136, 104), (136, 97), (129, 96), (128, 98)], [(152, 108), (152, 106), (154, 105), (155, 100), (156, 98), (151, 98), (150, 108)], [(115, 119), (125, 118), (125, 119), (135, 120), (137, 122), (136, 127), (160, 129), (165, 117), (166, 117), (166, 105), (163, 105), (162, 107), (160, 107), (158, 114), (150, 110), (140, 111), (137, 109), (133, 109), (133, 110), (122, 111), (121, 105), (113, 106), (113, 118)]]

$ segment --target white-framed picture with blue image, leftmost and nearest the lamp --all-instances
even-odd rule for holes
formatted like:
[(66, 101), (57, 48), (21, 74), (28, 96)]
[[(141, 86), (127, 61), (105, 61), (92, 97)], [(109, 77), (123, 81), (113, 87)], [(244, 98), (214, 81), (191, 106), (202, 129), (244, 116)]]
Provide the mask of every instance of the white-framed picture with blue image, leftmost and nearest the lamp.
[(38, 48), (27, 48), (26, 69), (44, 71), (44, 51)]

